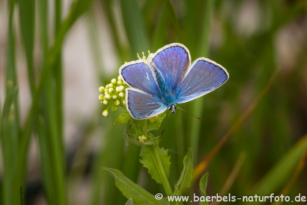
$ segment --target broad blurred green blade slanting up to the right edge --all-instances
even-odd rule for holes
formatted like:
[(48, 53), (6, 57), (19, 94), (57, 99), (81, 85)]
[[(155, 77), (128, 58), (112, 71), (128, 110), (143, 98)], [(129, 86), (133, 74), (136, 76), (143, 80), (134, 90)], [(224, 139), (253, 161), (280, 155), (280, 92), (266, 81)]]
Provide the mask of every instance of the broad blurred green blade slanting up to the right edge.
[(292, 176), (306, 148), (307, 136), (301, 138), (301, 140), (290, 148), (290, 150), (260, 180), (251, 193), (263, 196), (278, 191)]

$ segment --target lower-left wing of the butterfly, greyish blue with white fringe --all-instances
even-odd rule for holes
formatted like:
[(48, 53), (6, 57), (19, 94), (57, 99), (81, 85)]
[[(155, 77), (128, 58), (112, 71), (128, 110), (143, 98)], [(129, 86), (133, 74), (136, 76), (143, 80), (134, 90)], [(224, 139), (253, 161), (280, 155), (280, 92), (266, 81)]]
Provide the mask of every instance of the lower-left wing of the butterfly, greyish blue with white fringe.
[(167, 109), (167, 106), (148, 93), (134, 89), (126, 89), (127, 110), (135, 119), (156, 116)]

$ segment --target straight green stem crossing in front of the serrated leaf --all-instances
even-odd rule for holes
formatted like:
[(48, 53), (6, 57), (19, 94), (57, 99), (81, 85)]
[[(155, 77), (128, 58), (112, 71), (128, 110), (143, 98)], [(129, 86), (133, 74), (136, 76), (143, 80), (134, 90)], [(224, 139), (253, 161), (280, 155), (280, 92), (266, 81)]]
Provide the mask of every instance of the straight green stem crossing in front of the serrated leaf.
[(168, 196), (173, 195), (172, 188), (171, 188), (171, 186), (169, 185), (169, 180), (168, 180), (167, 177), (166, 177), (166, 174), (165, 174), (164, 168), (163, 168), (163, 166), (162, 166), (162, 162), (161, 162), (161, 160), (160, 160), (160, 157), (159, 157), (159, 155), (158, 155), (157, 149), (154, 148), (154, 146), (148, 146), (148, 148), (150, 149), (150, 153), (151, 153), (151, 155), (153, 156), (154, 164), (155, 164), (156, 167), (157, 167), (157, 170), (158, 170), (158, 172), (159, 172), (159, 175), (160, 175), (161, 181), (162, 181), (162, 183), (163, 183), (164, 189), (165, 189), (165, 191), (166, 191), (166, 194), (167, 194)]

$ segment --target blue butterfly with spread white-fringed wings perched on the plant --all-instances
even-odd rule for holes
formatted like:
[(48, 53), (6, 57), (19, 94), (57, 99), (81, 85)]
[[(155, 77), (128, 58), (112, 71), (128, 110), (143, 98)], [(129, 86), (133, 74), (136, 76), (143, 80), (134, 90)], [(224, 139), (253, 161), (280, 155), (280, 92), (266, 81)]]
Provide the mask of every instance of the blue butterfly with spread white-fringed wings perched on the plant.
[[(192, 101), (220, 87), (229, 78), (223, 66), (208, 58), (191, 65), (185, 45), (172, 43), (139, 60), (122, 65), (119, 75), (130, 86), (126, 105), (135, 119), (156, 116), (166, 109), (176, 113), (176, 104)], [(144, 53), (143, 53), (144, 55)]]

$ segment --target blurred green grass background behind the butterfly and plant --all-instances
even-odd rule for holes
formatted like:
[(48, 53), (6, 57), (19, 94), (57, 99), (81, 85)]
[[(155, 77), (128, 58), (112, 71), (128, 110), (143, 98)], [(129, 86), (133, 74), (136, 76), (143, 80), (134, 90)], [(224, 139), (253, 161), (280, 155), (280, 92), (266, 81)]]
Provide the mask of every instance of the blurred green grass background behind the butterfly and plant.
[[(21, 204), (23, 183), (24, 204), (125, 204), (101, 167), (164, 193), (113, 125), (124, 110), (101, 115), (98, 88), (136, 53), (173, 42), (230, 78), (181, 105), (204, 121), (170, 117), (160, 143), (170, 149), (170, 184), (188, 147), (196, 166), (279, 69), (210, 161), (207, 195), (307, 196), (306, 14), (306, 0), (0, 0), (0, 203)], [(197, 184), (188, 193), (200, 195)]]

